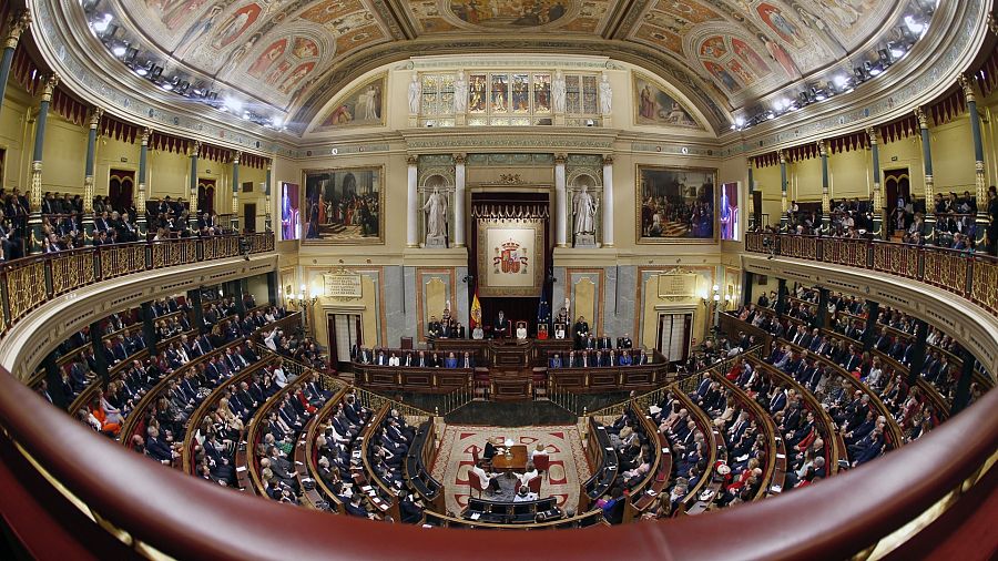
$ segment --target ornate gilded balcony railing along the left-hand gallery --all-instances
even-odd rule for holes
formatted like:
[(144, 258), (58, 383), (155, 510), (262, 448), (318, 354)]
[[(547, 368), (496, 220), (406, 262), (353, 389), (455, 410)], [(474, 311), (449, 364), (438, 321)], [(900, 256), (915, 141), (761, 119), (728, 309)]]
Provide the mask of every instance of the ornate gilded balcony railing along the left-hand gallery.
[(100, 282), (175, 265), (274, 249), (274, 233), (81, 247), (0, 266), (0, 333), (50, 298)]

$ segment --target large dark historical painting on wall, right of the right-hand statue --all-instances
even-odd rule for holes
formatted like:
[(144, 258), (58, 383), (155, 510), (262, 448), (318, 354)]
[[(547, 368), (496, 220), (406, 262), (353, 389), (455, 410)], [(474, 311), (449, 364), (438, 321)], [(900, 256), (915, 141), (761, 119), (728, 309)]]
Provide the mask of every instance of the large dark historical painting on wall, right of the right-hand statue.
[(715, 239), (716, 170), (638, 166), (638, 243)]

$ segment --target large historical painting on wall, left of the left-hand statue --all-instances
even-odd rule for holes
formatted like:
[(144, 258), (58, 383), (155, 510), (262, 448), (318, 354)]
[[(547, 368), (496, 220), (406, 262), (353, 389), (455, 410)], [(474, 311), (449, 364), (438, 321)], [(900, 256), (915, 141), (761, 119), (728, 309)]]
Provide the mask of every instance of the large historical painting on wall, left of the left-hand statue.
[(384, 243), (384, 176), (381, 167), (306, 171), (305, 241)]

